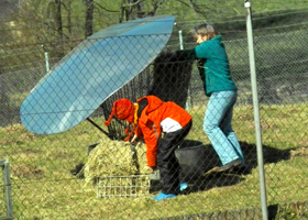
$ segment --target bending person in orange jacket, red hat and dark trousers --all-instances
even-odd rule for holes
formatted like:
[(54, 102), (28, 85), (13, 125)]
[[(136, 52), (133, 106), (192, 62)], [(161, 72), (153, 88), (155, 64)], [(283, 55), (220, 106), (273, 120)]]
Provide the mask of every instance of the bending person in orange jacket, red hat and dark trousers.
[(153, 172), (158, 168), (161, 173), (162, 193), (153, 199), (176, 197), (180, 186), (180, 166), (175, 150), (191, 129), (191, 116), (175, 102), (164, 102), (155, 96), (142, 97), (135, 103), (129, 99), (119, 99), (113, 102), (106, 125), (109, 125), (113, 116), (133, 123), (133, 130), (125, 140), (129, 141), (133, 133), (131, 142), (143, 136), (147, 165)]

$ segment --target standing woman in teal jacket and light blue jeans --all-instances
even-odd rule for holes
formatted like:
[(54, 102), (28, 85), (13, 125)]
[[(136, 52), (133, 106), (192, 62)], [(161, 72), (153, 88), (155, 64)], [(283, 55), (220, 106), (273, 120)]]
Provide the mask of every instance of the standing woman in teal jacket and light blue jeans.
[(177, 56), (198, 59), (205, 92), (209, 97), (204, 131), (222, 164), (209, 172), (244, 167), (244, 156), (231, 127), (238, 88), (230, 75), (229, 59), (221, 35), (212, 25), (201, 24), (195, 29), (195, 36), (197, 46), (194, 50), (178, 51)]

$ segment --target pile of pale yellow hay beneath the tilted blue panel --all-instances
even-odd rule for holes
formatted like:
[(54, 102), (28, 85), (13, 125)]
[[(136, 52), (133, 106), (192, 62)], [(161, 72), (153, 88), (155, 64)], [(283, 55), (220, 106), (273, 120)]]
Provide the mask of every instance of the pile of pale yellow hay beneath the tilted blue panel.
[[(136, 157), (133, 157), (133, 150), (136, 152)], [(148, 174), (145, 154), (146, 147), (143, 143), (133, 146), (129, 142), (102, 139), (91, 151), (85, 164), (86, 183), (96, 183), (96, 179), (101, 176)]]

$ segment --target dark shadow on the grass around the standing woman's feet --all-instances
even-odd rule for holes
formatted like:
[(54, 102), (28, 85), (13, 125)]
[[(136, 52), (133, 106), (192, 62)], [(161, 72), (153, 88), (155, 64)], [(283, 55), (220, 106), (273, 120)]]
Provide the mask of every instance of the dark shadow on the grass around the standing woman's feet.
[[(190, 186), (190, 190), (188, 193), (208, 190), (213, 187), (237, 185), (244, 179), (244, 175), (250, 175), (252, 169), (257, 167), (256, 145), (246, 142), (240, 142), (240, 144), (245, 157), (246, 166), (244, 168), (234, 168), (223, 173), (211, 173), (205, 175), (205, 173), (212, 167), (221, 166), (219, 157), (211, 145), (204, 145), (202, 156), (195, 158), (195, 164), (193, 164), (190, 170), (187, 169), (187, 163), (182, 162), (179, 158), (179, 163), (184, 169), (183, 173), (185, 173), (183, 175), (183, 179)], [(200, 155), (200, 152), (196, 155)], [(286, 161), (290, 158), (290, 150), (277, 150), (263, 145), (263, 157), (264, 164)], [(196, 164), (199, 164), (198, 168), (196, 168)]]

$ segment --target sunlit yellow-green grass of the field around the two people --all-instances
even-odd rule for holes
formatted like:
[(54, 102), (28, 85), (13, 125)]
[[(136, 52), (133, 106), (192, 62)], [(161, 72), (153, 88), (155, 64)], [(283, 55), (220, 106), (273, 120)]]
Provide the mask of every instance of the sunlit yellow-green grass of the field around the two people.
[[(194, 127), (187, 139), (209, 145), (201, 130), (205, 108), (194, 107), (189, 111)], [(308, 105), (261, 107), (268, 205), (308, 200), (307, 114)], [(103, 122), (102, 119), (96, 121), (99, 124)], [(242, 144), (250, 174), (202, 178), (199, 182), (202, 190), (154, 202), (152, 195), (97, 198), (94, 186), (72, 175), (70, 170), (76, 165), (87, 162), (87, 146), (105, 139), (105, 134), (86, 121), (53, 135), (32, 134), (21, 124), (0, 128), (0, 155), (9, 158), (11, 166), (14, 217), (44, 220), (151, 219), (260, 207), (251, 106), (235, 108), (233, 129)], [(206, 162), (211, 163), (210, 158)]]

